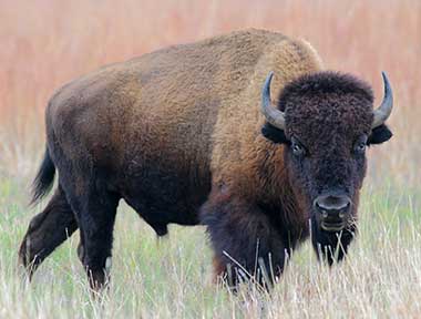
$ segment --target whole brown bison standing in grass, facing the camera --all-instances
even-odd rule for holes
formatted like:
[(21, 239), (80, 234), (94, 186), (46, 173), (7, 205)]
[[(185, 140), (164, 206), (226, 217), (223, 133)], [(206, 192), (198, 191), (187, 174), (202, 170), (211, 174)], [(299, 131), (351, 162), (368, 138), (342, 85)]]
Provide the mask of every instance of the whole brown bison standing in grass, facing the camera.
[(307, 42), (260, 30), (70, 82), (48, 104), (33, 202), (55, 171), (58, 186), (31, 220), (20, 260), (32, 276), (79, 228), (79, 258), (91, 287), (103, 287), (120, 199), (158, 236), (171, 223), (205, 225), (215, 274), (234, 286), (256, 265), (280, 275), (310, 234), (322, 260), (340, 260), (357, 231), (366, 148), (392, 135), (384, 73), (383, 82), (373, 109), (369, 84), (325, 71)]

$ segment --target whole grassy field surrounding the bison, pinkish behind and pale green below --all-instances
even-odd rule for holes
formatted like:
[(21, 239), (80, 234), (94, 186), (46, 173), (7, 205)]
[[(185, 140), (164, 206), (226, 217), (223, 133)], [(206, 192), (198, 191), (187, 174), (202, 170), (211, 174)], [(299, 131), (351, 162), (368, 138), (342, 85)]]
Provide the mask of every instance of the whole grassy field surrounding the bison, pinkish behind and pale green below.
[[(421, 2), (11, 1), (0, 2), (0, 318), (419, 318), (421, 313)], [(78, 235), (31, 285), (17, 267), (30, 218), (29, 187), (44, 143), (53, 90), (95, 68), (229, 30), (255, 27), (305, 38), (327, 69), (396, 94), (394, 137), (369, 151), (360, 234), (331, 269), (306, 244), (271, 296), (212, 284), (206, 234), (154, 233), (121, 205), (112, 285), (92, 300), (75, 254)]]

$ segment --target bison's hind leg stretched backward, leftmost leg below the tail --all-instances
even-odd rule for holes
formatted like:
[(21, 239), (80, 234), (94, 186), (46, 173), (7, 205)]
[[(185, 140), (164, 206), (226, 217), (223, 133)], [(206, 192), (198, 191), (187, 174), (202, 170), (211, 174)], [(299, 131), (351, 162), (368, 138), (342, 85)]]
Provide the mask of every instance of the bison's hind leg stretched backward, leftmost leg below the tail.
[(32, 218), (19, 249), (19, 260), (30, 278), (38, 266), (76, 229), (73, 212), (59, 186), (44, 210)]

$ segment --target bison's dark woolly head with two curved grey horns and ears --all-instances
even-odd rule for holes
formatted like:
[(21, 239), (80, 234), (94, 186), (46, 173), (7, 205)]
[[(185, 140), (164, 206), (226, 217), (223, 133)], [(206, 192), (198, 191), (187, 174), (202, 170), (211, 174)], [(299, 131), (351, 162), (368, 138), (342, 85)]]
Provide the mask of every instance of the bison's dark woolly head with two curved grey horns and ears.
[(285, 165), (297, 199), (318, 231), (352, 229), (366, 148), (392, 136), (384, 125), (392, 110), (386, 74), (383, 102), (376, 110), (368, 84), (333, 72), (297, 79), (273, 105), (271, 78), (270, 73), (263, 88), (263, 134), (286, 144)]

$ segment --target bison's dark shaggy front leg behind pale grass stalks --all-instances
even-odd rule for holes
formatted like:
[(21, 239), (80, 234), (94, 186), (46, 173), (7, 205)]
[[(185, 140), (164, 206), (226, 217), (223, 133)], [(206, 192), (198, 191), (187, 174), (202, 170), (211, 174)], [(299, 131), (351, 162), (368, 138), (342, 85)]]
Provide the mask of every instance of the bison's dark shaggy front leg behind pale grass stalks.
[(230, 287), (251, 279), (267, 288), (283, 271), (285, 245), (256, 205), (234, 196), (210, 196), (201, 222), (215, 250), (215, 275)]

